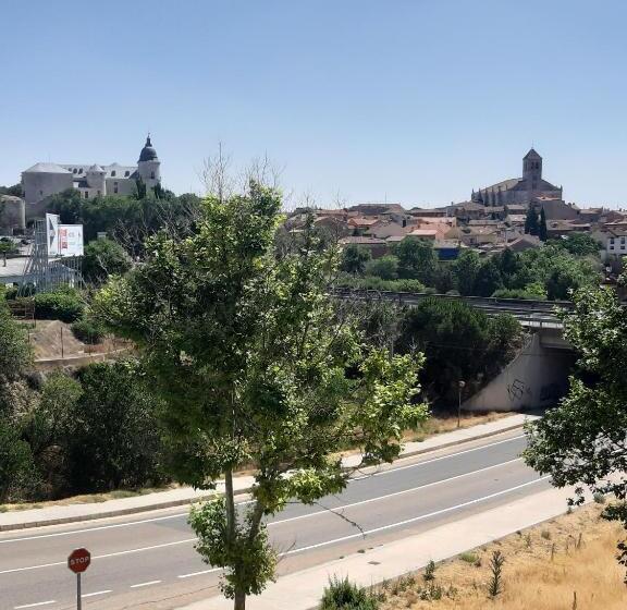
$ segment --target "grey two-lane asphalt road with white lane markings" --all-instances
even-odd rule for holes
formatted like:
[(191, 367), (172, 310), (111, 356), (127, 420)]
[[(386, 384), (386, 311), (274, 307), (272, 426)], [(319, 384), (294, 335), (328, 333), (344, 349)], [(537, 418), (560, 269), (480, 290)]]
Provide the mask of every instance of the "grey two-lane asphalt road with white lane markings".
[[(300, 570), (494, 508), (549, 487), (519, 457), (519, 431), (399, 460), (319, 505), (269, 520), (280, 573)], [(245, 499), (243, 500), (245, 502)], [(194, 550), (186, 510), (172, 509), (0, 536), (0, 608), (75, 608), (72, 549), (86, 547), (83, 607), (171, 609), (217, 591), (219, 570)]]

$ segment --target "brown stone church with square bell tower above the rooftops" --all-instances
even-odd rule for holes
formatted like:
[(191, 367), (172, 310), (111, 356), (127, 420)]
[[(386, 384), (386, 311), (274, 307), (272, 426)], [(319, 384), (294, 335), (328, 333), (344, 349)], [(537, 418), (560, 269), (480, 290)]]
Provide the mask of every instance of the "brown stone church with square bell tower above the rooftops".
[(484, 206), (529, 205), (538, 199), (562, 200), (562, 186), (542, 178), (542, 157), (531, 148), (522, 157), (522, 178), (511, 178), (472, 191), (471, 200)]

